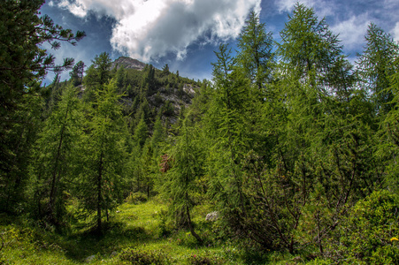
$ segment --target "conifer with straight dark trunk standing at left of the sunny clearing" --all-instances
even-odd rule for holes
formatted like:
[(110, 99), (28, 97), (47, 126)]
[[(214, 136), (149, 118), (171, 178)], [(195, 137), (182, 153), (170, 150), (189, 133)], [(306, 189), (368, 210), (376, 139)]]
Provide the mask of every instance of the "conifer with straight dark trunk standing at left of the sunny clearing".
[[(119, 105), (115, 80), (96, 91), (89, 108), (87, 135), (81, 143), (81, 167), (76, 189), (82, 206), (96, 212), (96, 231), (102, 232), (105, 216), (121, 200), (124, 167), (127, 164), (127, 125)], [(81, 180), (79, 180), (81, 179)]]

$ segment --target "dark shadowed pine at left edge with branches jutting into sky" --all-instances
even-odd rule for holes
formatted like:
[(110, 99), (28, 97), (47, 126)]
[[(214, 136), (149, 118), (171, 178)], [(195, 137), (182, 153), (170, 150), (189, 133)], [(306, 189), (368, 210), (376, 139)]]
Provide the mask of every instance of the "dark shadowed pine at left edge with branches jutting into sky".
[[(73, 34), (49, 16), (39, 17), (43, 0), (6, 0), (0, 3), (0, 208), (19, 208), (27, 184), (27, 162), (35, 133), (40, 127), (42, 104), (40, 84), (49, 71), (61, 72), (73, 65), (65, 58), (62, 65), (42, 49), (50, 43), (75, 45), (84, 37)], [(21, 34), (24, 33), (24, 34)], [(23, 201), (23, 200), (22, 200)]]

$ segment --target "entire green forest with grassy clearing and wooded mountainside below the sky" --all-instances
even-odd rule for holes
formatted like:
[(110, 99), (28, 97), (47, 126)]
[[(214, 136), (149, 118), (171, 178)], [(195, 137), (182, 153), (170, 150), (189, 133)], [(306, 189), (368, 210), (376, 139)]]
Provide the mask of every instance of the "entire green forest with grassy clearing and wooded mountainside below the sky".
[(382, 28), (349, 62), (313, 9), (295, 4), (280, 42), (252, 11), (195, 81), (105, 52), (56, 65), (42, 44), (86, 34), (43, 2), (0, 3), (0, 264), (399, 264)]

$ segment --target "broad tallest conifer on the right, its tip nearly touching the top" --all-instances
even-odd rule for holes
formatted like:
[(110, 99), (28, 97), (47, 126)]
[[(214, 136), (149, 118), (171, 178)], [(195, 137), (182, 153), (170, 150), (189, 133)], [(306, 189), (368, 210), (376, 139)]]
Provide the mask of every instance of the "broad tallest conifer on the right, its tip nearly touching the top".
[(284, 118), (273, 151), (277, 163), (264, 181), (280, 192), (265, 189), (277, 202), (267, 211), (280, 216), (275, 233), (289, 252), (314, 244), (323, 254), (345, 208), (371, 193), (379, 176), (370, 174), (371, 131), (360, 118), (364, 103), (337, 36), (302, 4), (288, 19), (279, 45)]

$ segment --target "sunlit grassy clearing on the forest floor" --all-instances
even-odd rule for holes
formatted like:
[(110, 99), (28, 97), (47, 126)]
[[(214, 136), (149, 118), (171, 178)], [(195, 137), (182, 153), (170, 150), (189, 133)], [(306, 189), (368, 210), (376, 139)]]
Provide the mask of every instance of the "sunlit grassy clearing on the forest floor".
[[(189, 231), (173, 231), (165, 221), (165, 205), (125, 203), (111, 214), (104, 236), (96, 237), (76, 223), (54, 232), (40, 223), (0, 216), (4, 247), (0, 264), (298, 264), (288, 254), (244, 251), (218, 239), (215, 224), (204, 221), (206, 207), (194, 210), (196, 230), (206, 239), (198, 246)], [(142, 262), (138, 262), (141, 260)], [(147, 261), (147, 263), (145, 263)]]

